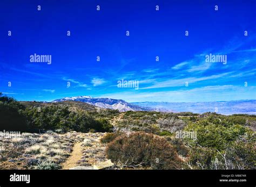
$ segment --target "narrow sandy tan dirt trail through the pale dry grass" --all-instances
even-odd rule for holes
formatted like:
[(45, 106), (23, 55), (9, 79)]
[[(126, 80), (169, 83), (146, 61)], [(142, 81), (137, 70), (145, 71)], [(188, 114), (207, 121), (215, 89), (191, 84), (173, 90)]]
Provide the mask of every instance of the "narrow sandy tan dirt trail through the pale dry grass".
[(78, 166), (77, 162), (83, 156), (82, 143), (83, 142), (75, 143), (75, 145), (73, 146), (73, 151), (72, 151), (71, 155), (69, 156), (68, 160), (66, 160), (62, 164), (62, 169), (70, 169), (70, 168)]

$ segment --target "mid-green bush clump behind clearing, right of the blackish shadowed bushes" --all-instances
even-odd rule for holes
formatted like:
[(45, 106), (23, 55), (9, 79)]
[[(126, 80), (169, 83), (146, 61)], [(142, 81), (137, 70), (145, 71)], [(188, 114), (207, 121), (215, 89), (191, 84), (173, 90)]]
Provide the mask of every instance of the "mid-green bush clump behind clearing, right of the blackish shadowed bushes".
[(26, 123), (34, 131), (58, 130), (58, 132), (66, 132), (74, 130), (89, 132), (90, 129), (97, 132), (112, 131), (112, 125), (108, 120), (103, 118), (96, 120), (87, 111), (71, 111), (65, 105), (42, 106), (40, 111), (37, 107), (27, 107), (23, 113), (26, 117)]

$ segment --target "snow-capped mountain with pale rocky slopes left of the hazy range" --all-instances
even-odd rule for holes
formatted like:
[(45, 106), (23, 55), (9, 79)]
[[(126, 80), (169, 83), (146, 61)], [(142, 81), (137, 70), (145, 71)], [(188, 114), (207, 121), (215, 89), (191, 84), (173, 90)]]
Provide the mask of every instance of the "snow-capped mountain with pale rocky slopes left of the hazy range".
[(62, 99), (53, 100), (53, 103), (64, 102), (66, 100), (73, 100), (84, 102), (87, 104), (95, 105), (103, 109), (119, 110), (120, 112), (126, 111), (152, 111), (149, 107), (137, 106), (131, 103), (127, 103), (122, 99), (110, 99), (110, 98), (92, 98), (90, 96), (77, 96), (77, 97), (64, 97)]

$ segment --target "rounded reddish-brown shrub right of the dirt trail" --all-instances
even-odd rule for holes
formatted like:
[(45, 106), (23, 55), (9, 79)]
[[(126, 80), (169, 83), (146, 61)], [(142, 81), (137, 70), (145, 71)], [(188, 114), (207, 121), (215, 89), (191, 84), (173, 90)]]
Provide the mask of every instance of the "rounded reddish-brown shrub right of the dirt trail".
[(123, 134), (107, 145), (106, 155), (122, 166), (152, 169), (180, 169), (181, 160), (164, 138), (144, 132)]

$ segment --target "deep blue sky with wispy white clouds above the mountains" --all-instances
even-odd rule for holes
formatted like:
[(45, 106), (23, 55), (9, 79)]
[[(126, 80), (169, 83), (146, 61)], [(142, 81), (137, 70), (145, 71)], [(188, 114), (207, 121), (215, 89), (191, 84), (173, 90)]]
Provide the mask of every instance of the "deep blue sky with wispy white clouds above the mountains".
[[(46, 101), (256, 99), (255, 9), (254, 0), (3, 0), (0, 91), (17, 100)], [(51, 55), (51, 64), (31, 63), (35, 53)], [(205, 62), (210, 53), (227, 55), (227, 63)], [(139, 81), (139, 89), (118, 88), (122, 79)]]

